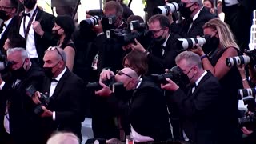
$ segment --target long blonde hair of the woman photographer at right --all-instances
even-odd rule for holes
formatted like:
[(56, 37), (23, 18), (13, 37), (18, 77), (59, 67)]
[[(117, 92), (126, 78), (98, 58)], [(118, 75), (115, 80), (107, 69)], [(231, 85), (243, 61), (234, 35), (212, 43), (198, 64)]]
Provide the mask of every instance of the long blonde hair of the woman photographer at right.
[(209, 22), (206, 22), (202, 28), (211, 28), (213, 30), (217, 30), (219, 42), (223, 48), (234, 47), (239, 50), (239, 46), (234, 41), (234, 34), (231, 32), (230, 27), (225, 22), (222, 22), (219, 18), (211, 19)]

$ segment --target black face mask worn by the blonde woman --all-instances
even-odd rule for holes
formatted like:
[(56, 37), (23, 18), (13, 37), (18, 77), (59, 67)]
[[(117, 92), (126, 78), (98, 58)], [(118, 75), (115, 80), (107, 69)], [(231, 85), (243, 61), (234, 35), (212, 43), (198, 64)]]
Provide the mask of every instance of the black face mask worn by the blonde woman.
[(211, 37), (210, 35), (205, 35), (206, 38), (206, 44), (202, 46), (202, 50), (209, 54), (210, 52), (213, 52), (218, 48), (219, 45), (219, 38), (216, 36)]

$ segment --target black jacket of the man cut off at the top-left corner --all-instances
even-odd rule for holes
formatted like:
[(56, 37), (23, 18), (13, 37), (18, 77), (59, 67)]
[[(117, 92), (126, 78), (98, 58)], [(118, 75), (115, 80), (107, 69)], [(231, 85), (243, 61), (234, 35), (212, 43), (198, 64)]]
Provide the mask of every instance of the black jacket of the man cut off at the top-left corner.
[(18, 30), (18, 16), (14, 16), (10, 21), (9, 25), (6, 27), (6, 30), (3, 32), (2, 37), (0, 39), (0, 47), (5, 44), (8, 34), (14, 33), (15, 30)]

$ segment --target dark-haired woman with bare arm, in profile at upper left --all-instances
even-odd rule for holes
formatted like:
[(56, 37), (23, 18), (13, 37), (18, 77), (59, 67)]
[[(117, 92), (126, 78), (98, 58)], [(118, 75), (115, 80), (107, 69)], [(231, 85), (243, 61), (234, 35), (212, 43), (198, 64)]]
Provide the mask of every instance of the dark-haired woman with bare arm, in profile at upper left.
[(74, 20), (69, 15), (61, 15), (55, 18), (53, 34), (58, 39), (58, 47), (62, 48), (66, 53), (66, 66), (69, 70), (73, 70), (75, 46), (71, 40), (71, 36), (74, 33)]

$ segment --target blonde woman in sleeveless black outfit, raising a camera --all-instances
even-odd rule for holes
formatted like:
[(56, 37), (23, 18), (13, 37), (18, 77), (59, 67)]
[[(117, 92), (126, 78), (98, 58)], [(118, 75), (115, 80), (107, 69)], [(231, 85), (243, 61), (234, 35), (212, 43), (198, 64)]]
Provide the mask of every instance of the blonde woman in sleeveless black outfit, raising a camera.
[[(230, 102), (226, 103), (226, 110), (230, 114), (230, 128), (234, 128), (230, 134), (237, 134), (235, 138), (241, 138), (238, 130), (238, 97), (237, 90), (242, 88), (241, 77), (238, 69), (233, 66), (226, 66), (226, 58), (234, 57), (239, 54), (238, 45), (234, 42), (234, 37), (225, 22), (218, 18), (214, 18), (203, 26), (204, 34), (210, 35), (212, 52), (206, 55), (200, 46), (191, 49), (202, 59), (204, 70), (210, 70), (215, 77), (218, 78), (222, 85), (225, 98)], [(230, 137), (232, 137), (230, 135)]]

